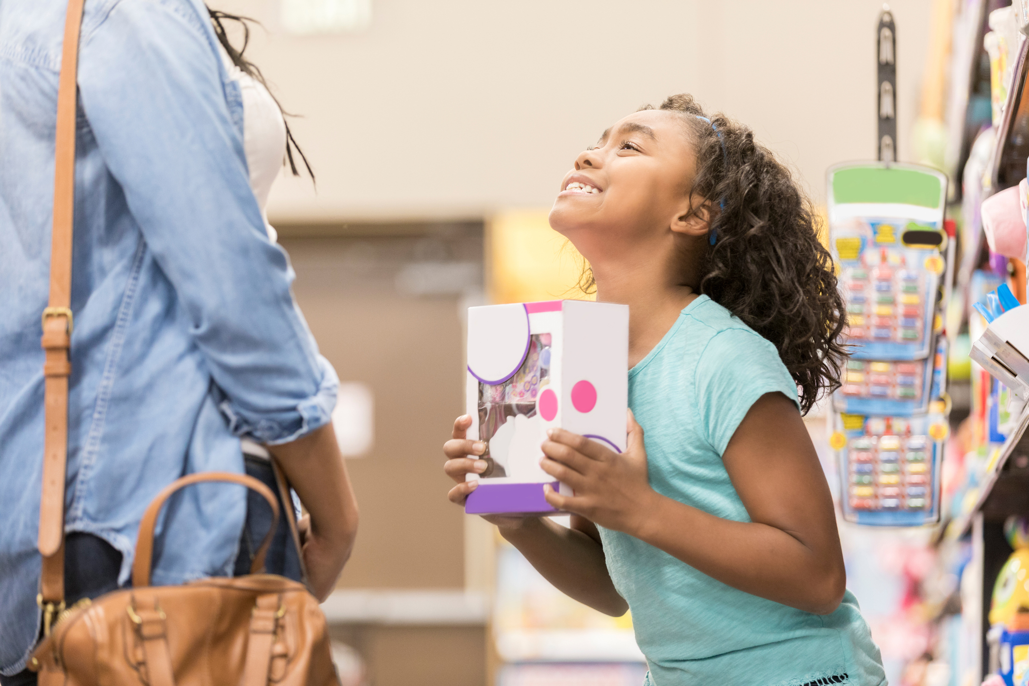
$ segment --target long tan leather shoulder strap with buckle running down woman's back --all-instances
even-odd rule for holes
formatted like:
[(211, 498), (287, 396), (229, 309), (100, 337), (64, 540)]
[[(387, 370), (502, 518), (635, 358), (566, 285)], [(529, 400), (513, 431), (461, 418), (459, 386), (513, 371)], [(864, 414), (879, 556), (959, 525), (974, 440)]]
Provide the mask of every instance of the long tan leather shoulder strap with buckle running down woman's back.
[(68, 376), (71, 362), (71, 246), (75, 215), (75, 114), (78, 36), (84, 0), (68, 0), (61, 76), (58, 81), (54, 156), (54, 230), (50, 239), (50, 294), (42, 317), (44, 434), (39, 552), (43, 556), (37, 603), (48, 634), (64, 610), (64, 499), (68, 461)]

